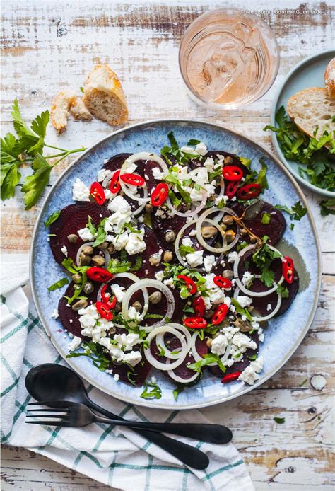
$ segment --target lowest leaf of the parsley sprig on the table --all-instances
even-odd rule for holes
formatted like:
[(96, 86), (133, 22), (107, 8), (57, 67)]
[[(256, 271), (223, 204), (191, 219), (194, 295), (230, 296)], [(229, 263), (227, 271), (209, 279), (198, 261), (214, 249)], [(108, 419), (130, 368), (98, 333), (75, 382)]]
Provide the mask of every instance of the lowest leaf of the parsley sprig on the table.
[(53, 166), (50, 166), (41, 154), (36, 154), (32, 168), (34, 171), (33, 175), (28, 175), (23, 181), (22, 186), (25, 209), (30, 209), (37, 203), (37, 200), (49, 183)]

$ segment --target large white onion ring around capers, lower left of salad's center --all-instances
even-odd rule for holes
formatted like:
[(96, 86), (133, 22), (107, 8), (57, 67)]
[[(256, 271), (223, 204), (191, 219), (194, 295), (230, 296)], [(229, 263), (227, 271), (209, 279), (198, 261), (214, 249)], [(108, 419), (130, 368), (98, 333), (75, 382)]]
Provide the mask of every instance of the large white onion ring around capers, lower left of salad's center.
[[(173, 312), (175, 311), (175, 299), (172, 294), (172, 291), (164, 284), (161, 282), (158, 282), (157, 279), (140, 279), (139, 281), (137, 280), (135, 284), (132, 284), (129, 289), (127, 289), (126, 293), (124, 294), (124, 299), (122, 301), (122, 316), (124, 316), (125, 320), (131, 320), (128, 315), (128, 306), (129, 306), (129, 300), (131, 299), (131, 296), (135, 293), (135, 291), (139, 289), (146, 289), (146, 288), (155, 288), (157, 290), (160, 290), (166, 297), (167, 299), (167, 311), (165, 313), (165, 316), (163, 319), (158, 320), (153, 325), (150, 325), (148, 327), (141, 326), (146, 333), (152, 331), (154, 328), (158, 328), (160, 325), (163, 325), (165, 322), (165, 318), (171, 318)], [(148, 305), (148, 301), (145, 301), (146, 305)], [(148, 311), (148, 308), (143, 309), (143, 311), (146, 310)], [(146, 312), (143, 314), (145, 316)]]

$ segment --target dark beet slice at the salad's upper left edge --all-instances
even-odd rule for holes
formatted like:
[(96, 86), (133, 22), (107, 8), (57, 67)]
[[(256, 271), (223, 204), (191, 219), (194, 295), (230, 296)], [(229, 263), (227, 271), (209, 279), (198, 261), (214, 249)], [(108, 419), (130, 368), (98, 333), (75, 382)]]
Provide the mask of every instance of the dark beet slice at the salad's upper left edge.
[[(92, 219), (95, 227), (98, 227), (100, 221), (105, 216), (110, 216), (107, 208), (100, 206), (98, 203), (81, 202), (69, 204), (69, 206), (61, 210), (59, 218), (50, 226), (50, 247), (55, 260), (61, 264), (66, 259), (66, 255), (61, 251), (64, 246), (67, 249), (68, 257), (76, 262), (78, 248), (83, 244), (83, 241), (78, 236), (78, 230), (84, 229), (88, 223), (88, 216)], [(68, 236), (75, 233), (78, 236), (76, 243), (68, 241)]]

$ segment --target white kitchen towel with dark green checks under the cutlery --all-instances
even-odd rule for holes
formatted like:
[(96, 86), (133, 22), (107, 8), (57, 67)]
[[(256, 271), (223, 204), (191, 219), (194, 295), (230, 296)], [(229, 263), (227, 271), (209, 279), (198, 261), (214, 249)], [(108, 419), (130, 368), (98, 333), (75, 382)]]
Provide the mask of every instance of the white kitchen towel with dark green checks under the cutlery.
[[(129, 491), (225, 490), (252, 491), (245, 463), (233, 444), (214, 445), (177, 437), (195, 444), (210, 459), (204, 471), (177, 461), (127, 428), (91, 424), (61, 428), (25, 424), (32, 398), (25, 389), (28, 371), (41, 363), (65, 364), (42, 328), (30, 296), (25, 261), (3, 262), (2, 319), (2, 428), (4, 444), (24, 446), (111, 487)], [(197, 410), (171, 411), (138, 408), (86, 387), (99, 405), (129, 420), (208, 422)]]

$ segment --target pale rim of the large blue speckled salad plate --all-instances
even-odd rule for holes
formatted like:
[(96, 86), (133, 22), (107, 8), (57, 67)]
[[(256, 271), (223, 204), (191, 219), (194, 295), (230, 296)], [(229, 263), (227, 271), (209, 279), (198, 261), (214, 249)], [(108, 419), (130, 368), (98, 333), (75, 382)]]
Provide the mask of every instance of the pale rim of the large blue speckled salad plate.
[[(279, 168), (281, 168), (281, 170), (283, 171), (283, 173), (286, 174), (286, 177), (291, 181), (291, 183), (295, 187), (295, 190), (298, 192), (298, 195), (300, 197), (300, 200), (302, 200), (302, 203), (306, 207), (306, 209), (307, 209), (307, 216), (310, 219), (312, 233), (313, 233), (313, 236), (315, 238), (315, 244), (316, 244), (316, 248), (317, 248), (317, 286), (316, 286), (316, 293), (317, 294), (314, 297), (314, 304), (313, 304), (313, 307), (312, 307), (312, 311), (310, 313), (309, 318), (306, 321), (305, 328), (300, 333), (300, 337), (298, 337), (297, 342), (295, 342), (295, 345), (291, 348), (290, 352), (288, 352), (288, 354), (286, 354), (286, 357), (284, 357), (281, 360), (281, 362), (279, 362), (278, 365), (275, 366), (275, 368), (272, 369), (269, 372), (269, 374), (266, 374), (266, 376), (261, 377), (259, 379), (259, 381), (257, 381), (256, 383), (254, 383), (253, 386), (247, 386), (246, 385), (245, 388), (241, 392), (239, 392), (237, 394), (235, 393), (235, 394), (231, 394), (231, 395), (228, 395), (228, 396), (225, 395), (222, 398), (218, 398), (218, 400), (210, 400), (210, 401), (205, 402), (205, 403), (195, 403), (195, 404), (192, 404), (192, 405), (189, 405), (189, 404), (187, 404), (187, 405), (186, 404), (185, 405), (178, 405), (178, 403), (176, 401), (176, 403), (174, 405), (172, 405), (172, 404), (164, 404), (164, 405), (157, 406), (151, 400), (147, 400), (147, 399), (144, 399), (144, 400), (137, 400), (136, 399), (136, 400), (134, 400), (134, 398), (124, 397), (124, 395), (122, 395), (120, 393), (114, 393), (114, 391), (106, 390), (106, 388), (103, 387), (103, 386), (100, 386), (100, 384), (97, 383), (93, 379), (93, 377), (88, 376), (88, 374), (86, 374), (86, 373), (81, 373), (81, 370), (78, 369), (78, 367), (76, 367), (74, 365), (73, 360), (71, 358), (70, 359), (65, 359), (64, 356), (63, 356), (63, 354), (61, 354), (61, 351), (59, 351), (59, 347), (57, 346), (57, 341), (54, 339), (54, 333), (52, 332), (51, 329), (49, 329), (49, 326), (47, 325), (47, 323), (44, 322), (44, 316), (42, 314), (42, 309), (40, 308), (40, 304), (39, 304), (39, 301), (38, 301), (38, 298), (37, 298), (37, 291), (35, 289), (35, 284), (33, 283), (33, 270), (34, 270), (34, 260), (35, 260), (35, 252), (34, 251), (35, 251), (35, 241), (36, 241), (36, 238), (37, 238), (37, 230), (40, 228), (40, 225), (41, 225), (41, 222), (42, 222), (42, 215), (45, 212), (45, 207), (47, 206), (47, 203), (49, 202), (50, 198), (52, 197), (52, 195), (54, 194), (55, 190), (57, 189), (58, 183), (66, 176), (66, 174), (68, 174), (70, 172), (71, 168), (73, 168), (76, 165), (76, 163), (81, 160), (81, 158), (83, 158), (84, 156), (86, 156), (87, 154), (89, 154), (91, 151), (93, 151), (93, 149), (95, 149), (95, 147), (97, 147), (98, 145), (100, 145), (103, 141), (105, 141), (107, 139), (110, 139), (111, 137), (114, 137), (116, 134), (119, 134), (119, 133), (122, 133), (122, 132), (125, 132), (125, 131), (131, 131), (134, 128), (145, 127), (145, 126), (148, 126), (148, 125), (166, 124), (166, 123), (175, 123), (175, 124), (180, 124), (180, 123), (191, 123), (191, 124), (194, 124), (194, 123), (196, 123), (196, 124), (199, 124), (199, 125), (205, 125), (205, 126), (208, 126), (208, 127), (213, 127), (213, 128), (216, 128), (216, 129), (221, 129), (223, 131), (229, 132), (230, 134), (233, 134), (235, 137), (238, 137), (238, 138), (241, 138), (241, 139), (247, 141), (248, 143), (251, 143), (253, 145), (256, 145), (259, 149), (261, 149), (262, 152), (264, 152), (264, 154), (266, 156), (268, 156), (269, 158), (272, 158), (274, 160), (274, 162), (276, 163), (276, 165)], [(40, 322), (42, 323), (42, 326), (45, 329), (45, 332), (47, 333), (47, 335), (49, 337), (49, 340), (52, 342), (52, 345), (54, 345), (54, 347), (57, 350), (57, 352), (59, 352), (59, 354), (61, 355), (61, 357), (64, 359), (64, 362), (66, 362), (66, 364), (68, 364), (70, 366), (70, 368), (73, 369), (76, 372), (76, 374), (78, 374), (78, 376), (81, 376), (82, 379), (84, 379), (85, 381), (87, 381), (88, 383), (90, 383), (91, 385), (93, 385), (94, 387), (98, 388), (103, 393), (105, 393), (107, 395), (111, 395), (112, 397), (117, 398), (119, 400), (122, 400), (125, 403), (139, 405), (139, 406), (142, 406), (142, 407), (145, 407), (145, 408), (155, 408), (155, 409), (161, 409), (161, 410), (165, 410), (165, 409), (186, 410), (186, 409), (196, 409), (196, 408), (210, 407), (210, 406), (213, 406), (213, 405), (217, 405), (217, 404), (228, 402), (228, 400), (232, 400), (232, 399), (235, 399), (235, 398), (240, 397), (242, 395), (245, 395), (246, 393), (249, 393), (250, 391), (252, 391), (254, 388), (257, 388), (257, 387), (261, 386), (267, 380), (271, 379), (271, 377), (273, 377), (283, 367), (283, 365), (285, 365), (286, 362), (288, 362), (288, 359), (290, 359), (290, 357), (292, 357), (292, 355), (295, 352), (295, 350), (297, 350), (298, 347), (300, 346), (302, 340), (304, 339), (305, 335), (307, 334), (307, 331), (310, 329), (310, 326), (312, 325), (312, 322), (313, 322), (313, 320), (315, 318), (315, 313), (317, 311), (317, 303), (318, 303), (319, 295), (320, 295), (320, 291), (321, 291), (322, 253), (321, 253), (321, 248), (320, 248), (320, 244), (319, 244), (319, 238), (317, 236), (317, 229), (315, 227), (315, 221), (314, 221), (314, 218), (312, 216), (312, 212), (310, 210), (310, 206), (309, 206), (309, 204), (308, 204), (308, 202), (306, 200), (305, 195), (303, 194), (302, 190), (300, 189), (300, 186), (295, 181), (295, 179), (293, 178), (293, 176), (290, 174), (290, 172), (288, 171), (288, 169), (286, 168), (286, 166), (283, 165), (283, 163), (279, 160), (279, 158), (277, 156), (271, 154), (271, 151), (269, 151), (268, 149), (266, 149), (266, 147), (264, 145), (259, 144), (259, 143), (256, 143), (256, 142), (252, 141), (252, 139), (249, 139), (248, 137), (246, 137), (244, 134), (242, 134), (240, 132), (237, 132), (234, 129), (230, 129), (230, 128), (226, 127), (225, 125), (218, 124), (218, 123), (207, 122), (205, 120), (192, 120), (192, 119), (180, 119), (180, 118), (167, 118), (167, 119), (160, 118), (160, 119), (156, 119), (156, 120), (147, 120), (147, 121), (143, 121), (143, 122), (138, 122), (138, 123), (135, 123), (134, 125), (129, 125), (127, 127), (124, 127), (124, 128), (121, 128), (121, 129), (117, 129), (116, 131), (108, 134), (107, 136), (102, 137), (102, 139), (96, 141), (92, 146), (90, 146), (88, 149), (86, 149), (86, 151), (84, 151), (83, 154), (81, 154), (80, 156), (77, 156), (74, 159), (74, 161), (72, 161), (69, 164), (69, 166), (66, 167), (64, 169), (64, 171), (59, 175), (59, 177), (57, 178), (57, 180), (55, 180), (54, 184), (52, 185), (51, 189), (49, 190), (47, 196), (45, 197), (45, 200), (42, 203), (42, 206), (40, 208), (40, 212), (39, 212), (39, 214), (37, 216), (37, 220), (35, 222), (33, 236), (32, 236), (32, 241), (31, 241), (31, 245), (30, 245), (29, 277), (30, 277), (30, 287), (31, 287), (32, 295), (33, 295), (33, 301), (34, 301), (34, 304), (35, 304), (37, 315), (40, 318)]]

